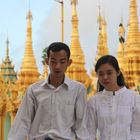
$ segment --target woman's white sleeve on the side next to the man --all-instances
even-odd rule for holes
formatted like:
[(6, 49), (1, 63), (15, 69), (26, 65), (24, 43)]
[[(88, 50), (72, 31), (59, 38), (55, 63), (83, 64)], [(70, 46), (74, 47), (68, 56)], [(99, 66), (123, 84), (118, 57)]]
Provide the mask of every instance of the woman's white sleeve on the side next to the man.
[(96, 102), (95, 97), (92, 97), (88, 100), (87, 104), (88, 110), (88, 132), (89, 132), (89, 140), (95, 140), (97, 134), (97, 113), (96, 113)]

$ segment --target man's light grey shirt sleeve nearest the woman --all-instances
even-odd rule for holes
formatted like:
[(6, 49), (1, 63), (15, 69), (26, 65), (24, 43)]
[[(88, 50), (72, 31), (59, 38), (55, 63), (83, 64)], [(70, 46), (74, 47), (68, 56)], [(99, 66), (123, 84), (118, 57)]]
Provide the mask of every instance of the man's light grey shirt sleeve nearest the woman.
[(86, 119), (87, 119), (86, 89), (84, 86), (81, 86), (75, 104), (74, 129), (77, 140), (89, 140)]

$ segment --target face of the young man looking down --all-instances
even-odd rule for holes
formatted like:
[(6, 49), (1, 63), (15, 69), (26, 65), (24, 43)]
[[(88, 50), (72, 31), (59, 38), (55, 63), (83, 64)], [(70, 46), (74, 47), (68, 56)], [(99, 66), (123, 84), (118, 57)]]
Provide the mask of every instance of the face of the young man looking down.
[(71, 64), (68, 60), (67, 53), (64, 50), (58, 52), (50, 51), (46, 63), (50, 68), (50, 75), (56, 78), (63, 78), (67, 67)]

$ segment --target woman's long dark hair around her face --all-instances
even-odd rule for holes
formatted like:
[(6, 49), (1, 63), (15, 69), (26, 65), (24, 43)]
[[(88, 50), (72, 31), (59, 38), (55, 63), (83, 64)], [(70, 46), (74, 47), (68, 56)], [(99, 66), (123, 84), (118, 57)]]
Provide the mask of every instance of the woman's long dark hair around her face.
[[(103, 64), (110, 64), (111, 66), (113, 66), (113, 68), (116, 70), (116, 72), (120, 73), (119, 76), (117, 77), (117, 84), (119, 86), (126, 86), (124, 76), (123, 76), (122, 72), (120, 71), (118, 61), (114, 56), (104, 55), (104, 56), (100, 57), (95, 65), (96, 73), (97, 73), (98, 69), (100, 68), (100, 66)], [(98, 80), (97, 91), (102, 91), (103, 89), (104, 89), (104, 86), (102, 86)]]

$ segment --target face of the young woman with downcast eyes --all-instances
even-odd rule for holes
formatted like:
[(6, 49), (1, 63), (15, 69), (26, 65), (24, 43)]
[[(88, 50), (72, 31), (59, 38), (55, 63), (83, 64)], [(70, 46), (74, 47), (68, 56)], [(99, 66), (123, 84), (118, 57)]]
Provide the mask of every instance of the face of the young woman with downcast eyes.
[(99, 82), (106, 90), (115, 91), (119, 88), (117, 77), (119, 73), (108, 63), (102, 64), (97, 70)]

